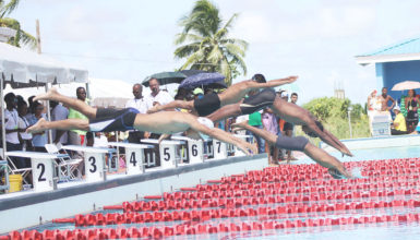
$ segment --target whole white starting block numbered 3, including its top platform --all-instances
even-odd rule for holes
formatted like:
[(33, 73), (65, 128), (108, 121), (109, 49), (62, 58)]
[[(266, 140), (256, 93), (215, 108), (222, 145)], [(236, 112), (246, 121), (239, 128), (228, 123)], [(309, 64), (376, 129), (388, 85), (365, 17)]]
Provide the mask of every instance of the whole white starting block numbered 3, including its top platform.
[(85, 176), (87, 182), (97, 182), (106, 180), (105, 154), (108, 148), (97, 148), (88, 146), (65, 145), (67, 151), (77, 151), (84, 153)]

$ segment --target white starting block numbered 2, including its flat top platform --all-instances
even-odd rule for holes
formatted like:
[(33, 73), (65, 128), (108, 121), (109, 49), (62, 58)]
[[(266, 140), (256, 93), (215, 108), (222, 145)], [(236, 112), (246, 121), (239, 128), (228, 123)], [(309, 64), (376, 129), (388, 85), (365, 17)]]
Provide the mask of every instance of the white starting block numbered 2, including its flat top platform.
[(57, 176), (55, 176), (53, 161), (58, 154), (13, 151), (7, 152), (9, 157), (31, 158), (32, 177), (35, 192), (46, 192), (57, 189)]

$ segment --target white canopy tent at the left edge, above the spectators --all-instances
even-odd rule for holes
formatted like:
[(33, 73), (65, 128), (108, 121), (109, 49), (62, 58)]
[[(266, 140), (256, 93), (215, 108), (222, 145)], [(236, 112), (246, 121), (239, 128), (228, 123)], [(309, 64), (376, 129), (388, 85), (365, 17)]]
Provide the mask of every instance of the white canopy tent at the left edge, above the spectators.
[[(9, 84), (12, 88), (46, 86), (50, 84), (87, 82), (87, 70), (71, 67), (52, 58), (33, 51), (0, 43), (0, 96), (3, 103), (3, 88)], [(4, 104), (2, 104), (1, 121), (4, 123)], [(5, 131), (2, 124), (3, 152), (5, 148)]]

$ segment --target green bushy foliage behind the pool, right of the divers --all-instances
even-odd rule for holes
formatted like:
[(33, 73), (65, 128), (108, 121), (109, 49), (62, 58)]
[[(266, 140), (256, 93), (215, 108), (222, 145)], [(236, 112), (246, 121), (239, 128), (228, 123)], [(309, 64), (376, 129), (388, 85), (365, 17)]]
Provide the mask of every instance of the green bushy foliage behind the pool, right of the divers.
[(303, 108), (311, 111), (320, 119), (324, 127), (338, 139), (349, 139), (348, 108), (351, 107), (351, 130), (353, 137), (367, 137), (369, 132), (369, 119), (360, 104), (352, 105), (349, 99), (335, 97), (315, 98)]

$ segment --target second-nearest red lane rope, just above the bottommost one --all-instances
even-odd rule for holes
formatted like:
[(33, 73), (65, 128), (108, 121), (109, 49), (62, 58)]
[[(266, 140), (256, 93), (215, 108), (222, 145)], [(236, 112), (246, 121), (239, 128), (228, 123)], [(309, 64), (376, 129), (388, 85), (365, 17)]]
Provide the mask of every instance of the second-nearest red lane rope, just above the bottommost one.
[(194, 220), (205, 221), (215, 218), (227, 217), (255, 217), (274, 216), (300, 213), (320, 212), (343, 212), (352, 209), (389, 208), (389, 207), (420, 207), (420, 201), (394, 200), (391, 202), (362, 202), (362, 203), (335, 203), (335, 204), (290, 204), (277, 207), (257, 208), (221, 208), (202, 211), (180, 211), (180, 212), (154, 212), (154, 213), (123, 213), (123, 214), (96, 214), (77, 215), (74, 219), (75, 227), (100, 226), (100, 225), (122, 225), (122, 224), (143, 224), (156, 221), (178, 221)]

